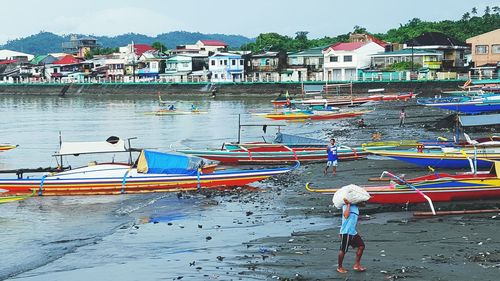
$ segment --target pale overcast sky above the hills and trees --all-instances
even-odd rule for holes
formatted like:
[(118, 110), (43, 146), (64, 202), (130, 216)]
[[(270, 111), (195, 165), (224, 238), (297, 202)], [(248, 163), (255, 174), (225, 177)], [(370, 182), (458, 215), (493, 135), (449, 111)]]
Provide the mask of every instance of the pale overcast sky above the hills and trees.
[(384, 32), (418, 17), (459, 19), (473, 6), (482, 15), (498, 0), (0, 0), (0, 44), (39, 31), (56, 34), (156, 35), (169, 31), (241, 34), (309, 31), (335, 36), (355, 25)]

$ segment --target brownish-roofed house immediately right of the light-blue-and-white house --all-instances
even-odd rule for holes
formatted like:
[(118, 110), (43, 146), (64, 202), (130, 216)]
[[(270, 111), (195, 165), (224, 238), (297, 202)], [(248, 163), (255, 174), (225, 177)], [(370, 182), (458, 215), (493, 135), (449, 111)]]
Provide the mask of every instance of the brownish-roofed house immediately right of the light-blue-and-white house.
[(247, 81), (280, 82), (286, 69), (286, 53), (265, 51), (247, 55)]

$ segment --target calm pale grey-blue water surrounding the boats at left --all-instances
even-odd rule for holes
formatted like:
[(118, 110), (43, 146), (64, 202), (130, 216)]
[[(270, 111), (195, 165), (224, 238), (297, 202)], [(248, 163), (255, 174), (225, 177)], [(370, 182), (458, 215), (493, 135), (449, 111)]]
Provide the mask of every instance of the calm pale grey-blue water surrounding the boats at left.
[[(159, 108), (155, 96), (0, 96), (3, 121), (0, 142), (19, 144), (18, 148), (0, 154), (0, 169), (55, 166), (51, 155), (59, 148), (60, 132), (65, 141), (102, 141), (112, 135), (137, 137), (132, 142), (134, 147), (169, 151), (218, 148), (224, 141), (235, 141), (238, 114), (243, 124), (280, 123), (252, 114), (272, 110), (269, 99), (217, 97), (213, 100), (199, 96), (170, 99), (175, 100), (179, 109), (187, 110), (195, 104), (208, 114), (147, 115), (146, 112)], [(407, 129), (397, 129), (402, 106), (408, 104), (366, 106), (377, 108), (365, 115), (370, 125), (366, 129), (357, 128), (352, 119), (286, 123), (282, 129), (321, 139), (333, 136), (348, 145), (369, 140), (375, 131), (383, 132), (387, 139), (434, 136), (421, 130), (420, 123), (411, 124), (411, 119)], [(409, 117), (430, 114), (418, 110), (407, 109)], [(268, 127), (266, 138), (272, 139), (275, 132)], [(262, 135), (262, 128), (249, 127), (243, 130), (242, 140), (259, 141)], [(102, 160), (109, 160), (108, 157), (112, 156)], [(75, 167), (101, 159), (68, 160), (65, 164)], [(345, 177), (349, 183), (347, 172)], [(303, 189), (303, 183), (299, 185)], [(256, 186), (296, 192), (287, 185), (280, 186), (279, 181)], [(0, 280), (172, 280), (179, 277), (245, 280), (250, 277), (239, 275), (241, 266), (232, 264), (242, 243), (332, 226), (332, 221), (320, 218), (283, 219), (286, 203), (276, 199), (273, 192), (259, 193), (255, 198), (248, 194), (240, 197), (237, 193), (222, 199), (198, 194), (181, 199), (176, 194), (146, 194), (37, 197), (3, 204), (0, 205)], [(261, 254), (260, 250), (256, 249), (255, 254)]]

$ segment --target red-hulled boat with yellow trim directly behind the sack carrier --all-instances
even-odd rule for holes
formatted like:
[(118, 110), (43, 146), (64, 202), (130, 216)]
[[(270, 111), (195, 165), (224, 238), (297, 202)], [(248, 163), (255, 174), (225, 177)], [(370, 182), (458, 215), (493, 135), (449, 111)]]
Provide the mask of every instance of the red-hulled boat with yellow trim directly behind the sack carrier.
[[(427, 195), (433, 202), (478, 200), (500, 198), (500, 169), (492, 164), (493, 169), (486, 173), (433, 174), (407, 180), (413, 187)], [(371, 198), (368, 202), (378, 204), (425, 203), (427, 200), (415, 189), (406, 184), (391, 182), (388, 185), (363, 186)], [(336, 188), (313, 188), (310, 192), (334, 194)]]

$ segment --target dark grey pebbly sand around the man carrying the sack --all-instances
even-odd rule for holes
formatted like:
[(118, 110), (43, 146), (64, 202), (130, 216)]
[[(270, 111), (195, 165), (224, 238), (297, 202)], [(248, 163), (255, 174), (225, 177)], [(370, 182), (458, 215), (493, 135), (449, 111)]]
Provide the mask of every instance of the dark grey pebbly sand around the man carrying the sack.
[[(407, 107), (410, 118), (407, 126), (400, 129), (395, 116), (403, 106)], [(365, 116), (368, 128), (355, 128), (351, 120), (345, 123), (345, 129), (325, 126), (324, 131), (342, 142), (366, 141), (374, 132), (382, 132), (385, 140), (449, 137), (449, 129), (435, 128), (438, 116), (445, 114), (405, 103), (386, 103), (378, 105), (375, 114)], [(364, 273), (352, 270), (355, 250), (350, 249), (344, 261), (349, 272), (337, 273), (340, 212), (332, 206), (330, 195), (307, 192), (305, 182), (314, 182), (317, 187), (380, 184), (367, 179), (380, 176), (384, 170), (407, 177), (428, 171), (380, 159), (340, 162), (335, 177), (323, 176), (323, 167), (323, 164), (307, 165), (288, 177), (275, 179), (274, 186), (281, 188), (271, 191), (272, 200), (287, 206), (282, 210), (283, 220), (306, 217), (313, 227), (315, 217), (327, 217), (331, 218), (331, 228), (291, 232), (287, 237), (265, 237), (242, 245), (241, 256), (228, 262), (242, 268), (239, 274), (243, 280), (500, 280), (500, 212), (413, 217), (414, 211), (430, 211), (426, 204), (362, 208), (361, 214), (365, 216), (358, 229), (366, 243), (362, 264), (368, 270)], [(490, 208), (500, 208), (500, 200), (436, 204), (438, 210)]]

